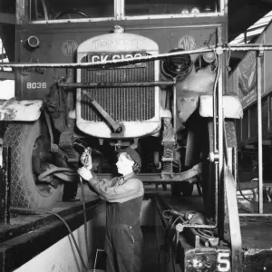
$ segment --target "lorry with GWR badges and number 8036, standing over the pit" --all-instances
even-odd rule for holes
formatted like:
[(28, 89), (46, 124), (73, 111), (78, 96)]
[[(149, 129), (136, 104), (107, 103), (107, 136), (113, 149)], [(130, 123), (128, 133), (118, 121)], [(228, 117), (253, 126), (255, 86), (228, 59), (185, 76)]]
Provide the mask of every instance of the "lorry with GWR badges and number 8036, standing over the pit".
[[(15, 207), (51, 209), (63, 182), (40, 175), (75, 168), (77, 142), (95, 151), (98, 173), (114, 173), (114, 151), (133, 146), (141, 153), (144, 181), (170, 182), (173, 195), (209, 183), (202, 159), (210, 151), (211, 98), (216, 77), (226, 84), (226, 74), (219, 75), (212, 50), (180, 52), (227, 42), (224, 3), (89, 4), (17, 5), (16, 61), (30, 66), (15, 68), (16, 99), (2, 106), (2, 120), (10, 122), (4, 145), (13, 149)], [(159, 53), (166, 55), (156, 59)], [(74, 69), (88, 63), (93, 66)], [(238, 99), (224, 100), (236, 107), (225, 117), (240, 118)], [(204, 198), (213, 187), (203, 187)]]

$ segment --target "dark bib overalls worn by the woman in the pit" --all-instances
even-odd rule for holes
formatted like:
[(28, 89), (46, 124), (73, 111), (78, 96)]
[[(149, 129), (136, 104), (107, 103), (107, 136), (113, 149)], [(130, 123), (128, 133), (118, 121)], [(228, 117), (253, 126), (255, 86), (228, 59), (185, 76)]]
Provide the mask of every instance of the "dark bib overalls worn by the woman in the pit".
[(106, 272), (141, 271), (141, 201), (142, 196), (106, 204)]

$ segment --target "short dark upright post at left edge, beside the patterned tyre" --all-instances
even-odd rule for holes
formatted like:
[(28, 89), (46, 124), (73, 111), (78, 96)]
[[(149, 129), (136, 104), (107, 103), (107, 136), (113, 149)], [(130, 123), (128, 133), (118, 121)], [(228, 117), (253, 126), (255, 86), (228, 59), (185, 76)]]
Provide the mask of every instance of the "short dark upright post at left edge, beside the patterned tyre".
[(10, 224), (11, 148), (3, 146), (3, 168), (0, 179), (0, 223)]

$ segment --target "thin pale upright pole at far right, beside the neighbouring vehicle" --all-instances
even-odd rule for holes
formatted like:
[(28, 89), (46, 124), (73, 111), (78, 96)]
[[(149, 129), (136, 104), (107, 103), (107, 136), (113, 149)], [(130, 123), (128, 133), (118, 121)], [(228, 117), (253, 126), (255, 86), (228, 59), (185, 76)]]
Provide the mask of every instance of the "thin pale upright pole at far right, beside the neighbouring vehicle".
[(263, 134), (262, 134), (262, 83), (261, 58), (263, 53), (257, 55), (257, 157), (258, 157), (258, 212), (264, 213), (263, 203)]

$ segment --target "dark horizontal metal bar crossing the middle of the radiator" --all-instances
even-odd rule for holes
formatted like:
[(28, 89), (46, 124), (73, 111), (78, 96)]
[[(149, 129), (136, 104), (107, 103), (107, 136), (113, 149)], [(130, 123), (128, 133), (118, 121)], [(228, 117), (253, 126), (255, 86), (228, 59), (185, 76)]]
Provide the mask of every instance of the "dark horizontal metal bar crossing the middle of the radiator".
[(108, 87), (154, 87), (172, 86), (176, 82), (150, 82), (150, 83), (58, 83), (62, 88), (108, 88)]

